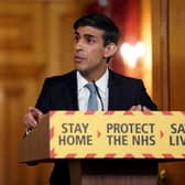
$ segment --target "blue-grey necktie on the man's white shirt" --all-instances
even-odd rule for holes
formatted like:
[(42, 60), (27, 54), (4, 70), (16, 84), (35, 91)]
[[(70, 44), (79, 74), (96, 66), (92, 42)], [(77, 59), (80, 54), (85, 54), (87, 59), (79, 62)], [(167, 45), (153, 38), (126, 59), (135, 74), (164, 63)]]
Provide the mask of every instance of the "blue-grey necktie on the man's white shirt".
[(96, 92), (94, 84), (91, 83), (86, 84), (85, 87), (87, 87), (90, 92), (87, 110), (98, 110), (97, 92)]

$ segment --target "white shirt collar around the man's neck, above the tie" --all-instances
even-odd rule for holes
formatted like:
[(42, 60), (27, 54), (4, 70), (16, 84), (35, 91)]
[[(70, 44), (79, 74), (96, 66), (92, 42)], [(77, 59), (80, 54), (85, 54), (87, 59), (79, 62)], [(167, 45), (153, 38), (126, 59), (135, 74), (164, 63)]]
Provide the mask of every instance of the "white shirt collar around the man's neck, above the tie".
[[(108, 87), (108, 77), (109, 77), (109, 70), (106, 69), (105, 74), (96, 81), (96, 85), (98, 88), (102, 91), (107, 91)], [(77, 72), (77, 85), (78, 85), (78, 91), (81, 90), (81, 88), (88, 84), (87, 79), (85, 79), (79, 72)]]

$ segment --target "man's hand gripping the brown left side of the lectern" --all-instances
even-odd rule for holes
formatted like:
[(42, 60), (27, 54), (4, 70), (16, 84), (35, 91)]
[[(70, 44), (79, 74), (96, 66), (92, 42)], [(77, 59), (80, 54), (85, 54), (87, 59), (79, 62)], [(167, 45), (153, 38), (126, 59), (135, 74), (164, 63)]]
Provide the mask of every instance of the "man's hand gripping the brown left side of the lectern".
[(36, 127), (43, 113), (41, 110), (36, 109), (35, 107), (29, 107), (28, 112), (24, 116), (24, 124), (28, 130), (32, 130)]

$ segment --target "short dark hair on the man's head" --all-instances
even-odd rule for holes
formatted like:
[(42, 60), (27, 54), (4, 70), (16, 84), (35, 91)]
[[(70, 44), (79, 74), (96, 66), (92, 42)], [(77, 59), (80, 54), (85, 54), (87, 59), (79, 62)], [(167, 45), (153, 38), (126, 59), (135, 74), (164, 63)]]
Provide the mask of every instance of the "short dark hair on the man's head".
[(104, 14), (90, 13), (79, 18), (74, 23), (74, 29), (77, 30), (79, 26), (92, 26), (99, 30), (102, 30), (104, 33), (104, 45), (109, 43), (118, 44), (119, 41), (119, 30), (111, 19)]

